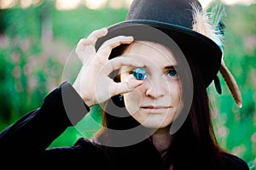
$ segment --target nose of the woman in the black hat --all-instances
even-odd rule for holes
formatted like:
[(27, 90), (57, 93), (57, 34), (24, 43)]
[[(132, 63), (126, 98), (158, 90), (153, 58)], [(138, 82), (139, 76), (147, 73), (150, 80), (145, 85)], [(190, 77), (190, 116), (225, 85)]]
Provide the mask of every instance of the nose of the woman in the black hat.
[(155, 77), (148, 81), (145, 94), (150, 98), (160, 98), (166, 94), (166, 81), (161, 77)]

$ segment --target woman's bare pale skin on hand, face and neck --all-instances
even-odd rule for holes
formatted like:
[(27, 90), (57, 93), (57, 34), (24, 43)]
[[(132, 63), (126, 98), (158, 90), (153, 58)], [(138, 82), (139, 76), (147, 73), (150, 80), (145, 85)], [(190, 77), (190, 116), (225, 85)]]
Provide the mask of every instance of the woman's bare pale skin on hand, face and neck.
[[(96, 52), (94, 44), (108, 34), (107, 28), (93, 31), (82, 38), (75, 52), (82, 62), (73, 88), (86, 105), (102, 105), (112, 96), (124, 95), (127, 111), (144, 127), (155, 129), (153, 144), (165, 155), (172, 144), (169, 133), (171, 123), (180, 106), (179, 79), (173, 73), (177, 62), (172, 51), (154, 42), (134, 42), (133, 37), (113, 37)], [(108, 59), (113, 48), (131, 44), (123, 57)], [(147, 78), (137, 80), (131, 71), (144, 68)], [(113, 82), (108, 75), (115, 70), (121, 73), (121, 82)]]

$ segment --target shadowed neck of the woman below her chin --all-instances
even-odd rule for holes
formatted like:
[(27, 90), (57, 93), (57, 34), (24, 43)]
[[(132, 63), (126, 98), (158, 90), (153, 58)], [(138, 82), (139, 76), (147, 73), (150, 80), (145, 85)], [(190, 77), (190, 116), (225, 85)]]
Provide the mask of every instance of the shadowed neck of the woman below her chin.
[(152, 135), (154, 147), (162, 157), (166, 155), (166, 151), (172, 144), (172, 135), (169, 133), (169, 129), (169, 127), (160, 128)]

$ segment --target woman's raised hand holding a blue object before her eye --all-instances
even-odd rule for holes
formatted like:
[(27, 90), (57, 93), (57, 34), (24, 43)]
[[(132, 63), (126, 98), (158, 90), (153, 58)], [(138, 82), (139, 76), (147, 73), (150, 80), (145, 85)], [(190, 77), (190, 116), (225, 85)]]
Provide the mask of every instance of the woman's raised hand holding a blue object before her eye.
[(96, 52), (94, 45), (97, 39), (107, 34), (107, 28), (93, 31), (87, 38), (82, 38), (75, 49), (75, 53), (83, 65), (73, 83), (73, 88), (77, 90), (84, 103), (89, 107), (102, 104), (113, 95), (130, 92), (143, 83), (136, 79), (130, 82), (113, 82), (113, 79), (108, 77), (112, 71), (118, 70), (122, 66), (143, 67), (143, 64), (135, 59), (125, 57), (108, 59), (113, 48), (120, 44), (130, 44), (133, 42), (133, 37), (113, 37), (104, 42)]

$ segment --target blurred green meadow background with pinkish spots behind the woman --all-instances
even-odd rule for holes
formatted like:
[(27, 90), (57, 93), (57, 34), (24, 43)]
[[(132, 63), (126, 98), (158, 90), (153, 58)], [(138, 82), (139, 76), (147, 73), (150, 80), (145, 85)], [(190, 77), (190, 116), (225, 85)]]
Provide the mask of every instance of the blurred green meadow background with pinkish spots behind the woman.
[[(73, 61), (73, 48), (79, 39), (125, 20), (127, 12), (125, 2), (105, 1), (104, 8), (79, 4), (69, 10), (60, 10), (61, 5), (51, 0), (3, 2), (6, 1), (0, 1), (0, 130), (38, 108), (61, 82), (72, 82), (79, 69)], [(236, 106), (221, 78), (223, 94), (217, 94), (213, 85), (208, 88), (213, 123), (221, 146), (256, 169), (256, 4), (230, 5), (225, 10), (224, 60), (239, 84), (243, 107)], [(68, 75), (68, 71), (74, 72)], [(77, 127), (69, 127), (50, 147), (73, 145), (80, 136), (90, 138), (99, 127), (99, 111), (95, 106), (79, 122), (83, 133)]]

